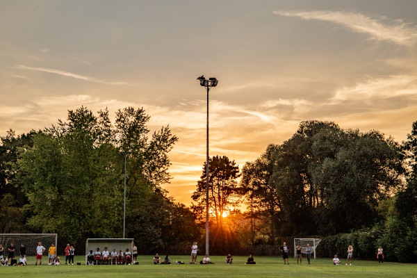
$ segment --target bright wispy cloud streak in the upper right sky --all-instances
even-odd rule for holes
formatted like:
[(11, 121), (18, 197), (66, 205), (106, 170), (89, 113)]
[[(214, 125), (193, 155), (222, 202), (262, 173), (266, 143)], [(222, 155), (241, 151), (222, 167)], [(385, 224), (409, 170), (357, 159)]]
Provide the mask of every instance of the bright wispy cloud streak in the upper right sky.
[(416, 26), (411, 26), (402, 20), (396, 20), (388, 24), (367, 17), (360, 13), (324, 11), (275, 11), (275, 15), (286, 17), (300, 17), (304, 20), (320, 20), (332, 22), (345, 28), (349, 28), (354, 33), (366, 33), (373, 40), (386, 40), (404, 46), (414, 45), (417, 38)]

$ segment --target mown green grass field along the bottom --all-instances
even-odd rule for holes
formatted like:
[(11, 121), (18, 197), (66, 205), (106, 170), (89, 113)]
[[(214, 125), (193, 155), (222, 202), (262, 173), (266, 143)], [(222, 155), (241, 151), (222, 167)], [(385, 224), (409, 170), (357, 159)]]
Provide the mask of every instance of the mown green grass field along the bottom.
[[(171, 261), (183, 261), (183, 265), (154, 265), (153, 256), (140, 256), (139, 265), (34, 265), (28, 258), (25, 267), (0, 267), (0, 277), (417, 277), (416, 264), (381, 263), (375, 261), (353, 261), (353, 265), (333, 265), (332, 259), (311, 260), (311, 265), (303, 259), (297, 265), (290, 259), (284, 265), (279, 257), (254, 257), (256, 265), (245, 265), (247, 257), (234, 256), (233, 264), (224, 263), (224, 256), (211, 256), (211, 265), (191, 265), (189, 256), (170, 256)], [(197, 260), (202, 259), (199, 256)], [(76, 256), (75, 262), (84, 262), (83, 256)], [(344, 260), (342, 260), (344, 262)]]

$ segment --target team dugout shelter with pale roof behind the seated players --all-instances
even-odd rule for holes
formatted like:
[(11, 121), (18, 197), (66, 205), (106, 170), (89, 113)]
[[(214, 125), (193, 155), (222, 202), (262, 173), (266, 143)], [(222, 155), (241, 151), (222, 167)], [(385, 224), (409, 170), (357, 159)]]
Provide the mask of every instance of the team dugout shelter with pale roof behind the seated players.
[[(88, 253), (90, 250), (95, 252), (97, 248), (100, 248), (100, 252), (102, 252), (104, 247), (107, 247), (108, 252), (115, 249), (117, 252), (122, 250), (124, 253), (127, 248), (132, 252), (133, 241), (133, 238), (88, 238), (85, 241), (85, 252)], [(85, 256), (85, 264), (87, 264), (87, 256)]]

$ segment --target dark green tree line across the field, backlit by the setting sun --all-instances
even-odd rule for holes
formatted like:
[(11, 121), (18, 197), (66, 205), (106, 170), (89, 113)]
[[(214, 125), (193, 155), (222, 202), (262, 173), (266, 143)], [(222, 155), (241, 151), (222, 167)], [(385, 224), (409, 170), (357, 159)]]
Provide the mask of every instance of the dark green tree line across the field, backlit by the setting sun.
[[(129, 151), (126, 237), (144, 254), (187, 254), (195, 240), (203, 250), (206, 165), (190, 208), (167, 197), (161, 186), (170, 181), (168, 153), (178, 138), (169, 126), (150, 133), (149, 118), (128, 107), (113, 124), (107, 110), (81, 107), (39, 131), (8, 131), (0, 138), (0, 233), (57, 232), (62, 246), (81, 251), (86, 238), (120, 238), (120, 152)], [(325, 256), (357, 243), (366, 259), (384, 245), (387, 259), (416, 260), (404, 250), (417, 255), (417, 122), (402, 144), (379, 131), (301, 122), (242, 169), (227, 156), (208, 166), (211, 254), (270, 254), (283, 238), (320, 236)]]

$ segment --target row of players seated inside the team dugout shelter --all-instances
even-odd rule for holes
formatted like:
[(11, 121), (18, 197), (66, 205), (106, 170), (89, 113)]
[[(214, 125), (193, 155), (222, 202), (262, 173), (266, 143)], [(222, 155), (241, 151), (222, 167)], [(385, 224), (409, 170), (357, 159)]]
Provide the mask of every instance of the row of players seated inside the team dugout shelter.
[(132, 263), (132, 255), (129, 248), (123, 253), (122, 250), (117, 252), (115, 249), (112, 252), (108, 252), (107, 247), (104, 247), (103, 252), (100, 252), (100, 248), (97, 248), (95, 252), (90, 250), (87, 254), (87, 265), (131, 265)]

